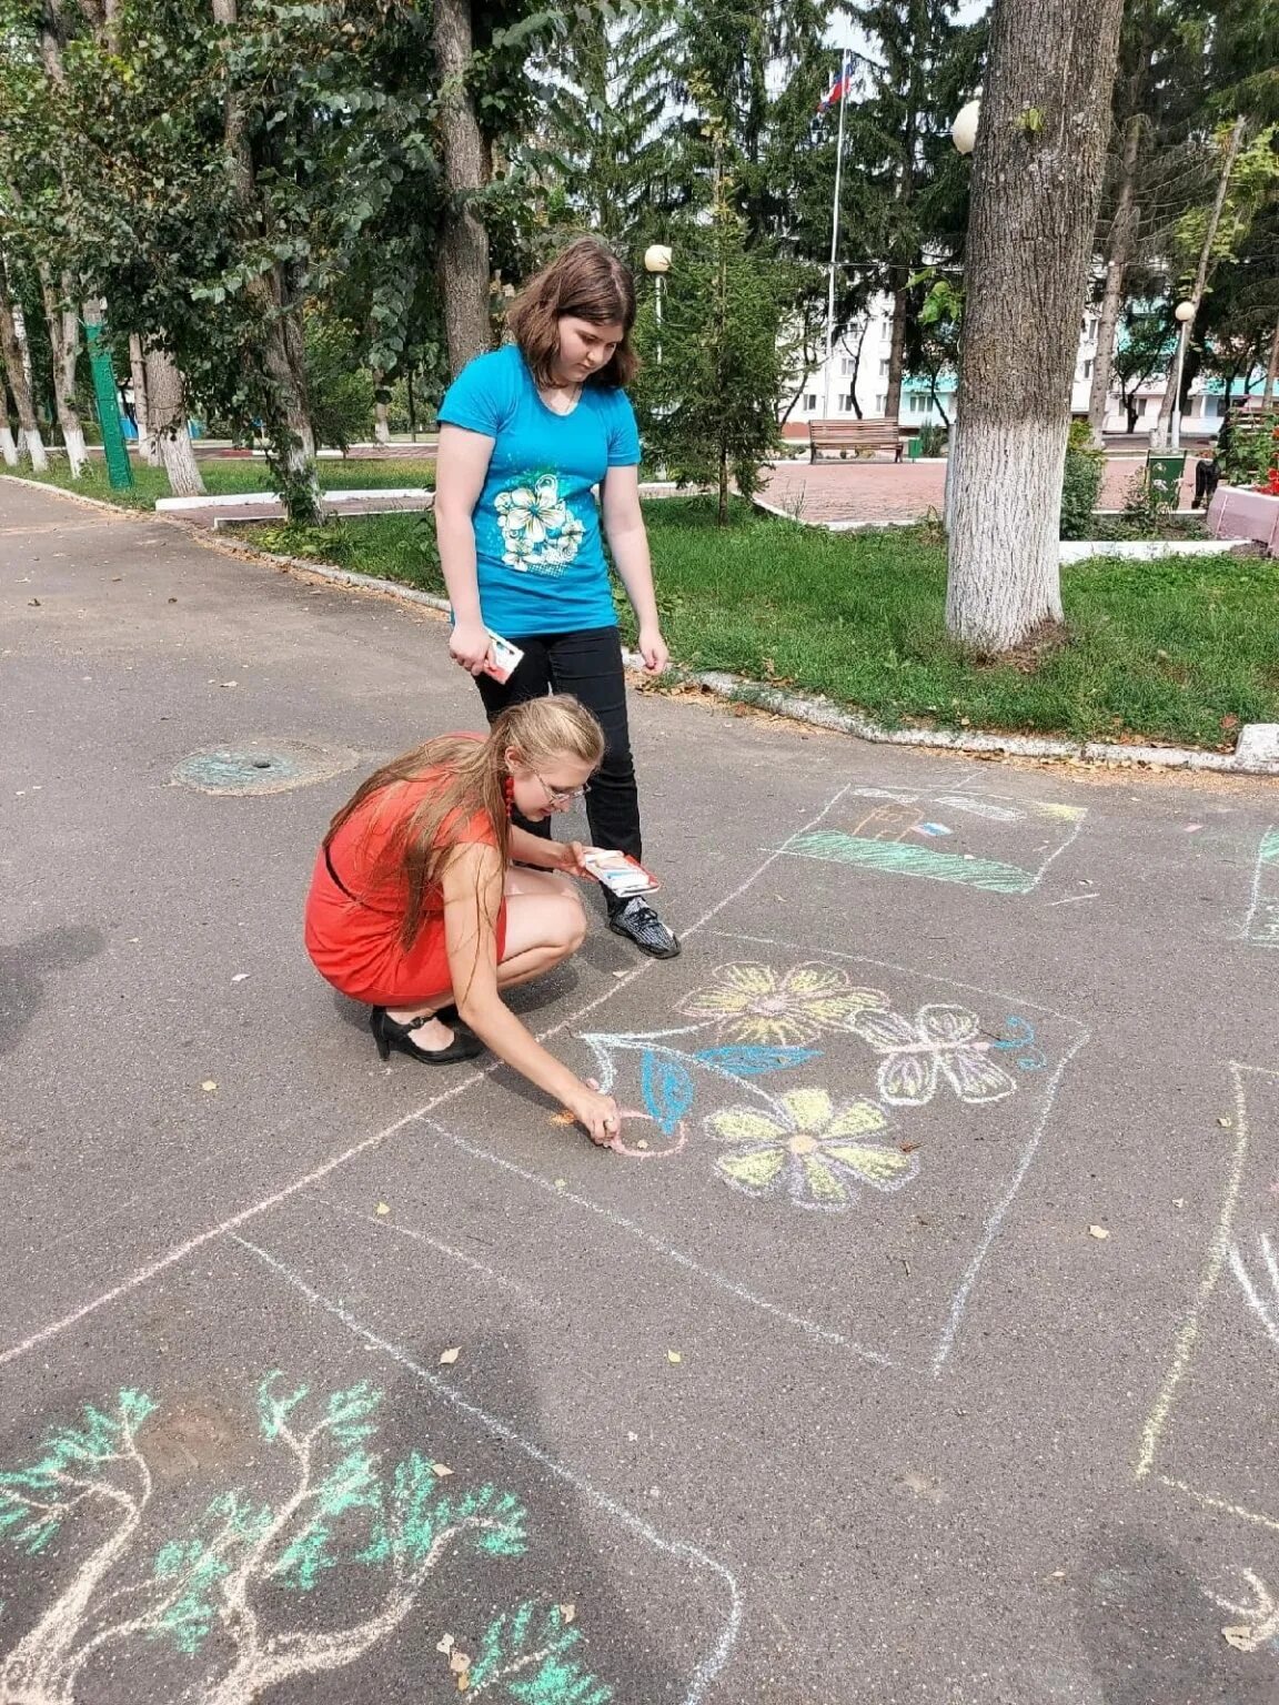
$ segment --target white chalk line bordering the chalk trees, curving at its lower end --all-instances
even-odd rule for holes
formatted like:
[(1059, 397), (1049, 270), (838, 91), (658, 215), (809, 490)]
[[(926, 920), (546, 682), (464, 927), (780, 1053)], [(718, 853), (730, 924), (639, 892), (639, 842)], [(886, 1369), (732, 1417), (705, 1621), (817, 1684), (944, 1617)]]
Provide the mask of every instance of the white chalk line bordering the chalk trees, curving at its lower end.
[(259, 1262), (263, 1262), (266, 1267), (276, 1272), (315, 1308), (322, 1308), (327, 1315), (333, 1315), (333, 1318), (341, 1321), (341, 1325), (346, 1326), (346, 1330), (351, 1332), (356, 1338), (363, 1338), (365, 1344), (370, 1344), (375, 1350), (380, 1350), (384, 1355), (389, 1355), (399, 1367), (413, 1374), (414, 1379), (428, 1386), (428, 1390), (431, 1390), (437, 1396), (443, 1398), (447, 1403), (460, 1410), (471, 1420), (479, 1422), (479, 1425), (484, 1427), (486, 1432), (491, 1432), (505, 1444), (515, 1446), (517, 1451), (522, 1451), (530, 1461), (537, 1463), (537, 1466), (542, 1468), (546, 1473), (553, 1475), (556, 1480), (561, 1480), (564, 1485), (571, 1487), (578, 1494), (578, 1497), (585, 1499), (588, 1504), (593, 1504), (595, 1509), (604, 1511), (604, 1514), (611, 1516), (614, 1521), (622, 1523), (622, 1526), (629, 1528), (631, 1533), (640, 1534), (640, 1538), (645, 1540), (646, 1545), (655, 1546), (658, 1552), (663, 1552), (667, 1557), (674, 1557), (682, 1563), (691, 1563), (696, 1569), (709, 1569), (711, 1574), (718, 1575), (720, 1581), (723, 1581), (725, 1587), (728, 1589), (728, 1616), (725, 1618), (725, 1625), (723, 1630), (720, 1632), (720, 1639), (716, 1640), (715, 1649), (701, 1661), (701, 1664), (697, 1664), (697, 1669), (694, 1671), (692, 1679), (689, 1681), (689, 1688), (684, 1693), (684, 1705), (699, 1705), (699, 1702), (706, 1696), (706, 1688), (711, 1685), (711, 1681), (715, 1681), (715, 1678), (728, 1662), (728, 1657), (732, 1656), (733, 1645), (737, 1644), (737, 1637), (742, 1628), (742, 1613), (744, 1613), (742, 1591), (732, 1570), (726, 1569), (725, 1563), (718, 1562), (718, 1558), (715, 1557), (709, 1557), (696, 1545), (689, 1545), (687, 1540), (662, 1538), (662, 1534), (655, 1528), (651, 1528), (643, 1519), (643, 1516), (636, 1516), (634, 1511), (629, 1511), (624, 1504), (619, 1504), (616, 1499), (609, 1497), (607, 1492), (600, 1492), (599, 1487), (595, 1487), (590, 1480), (585, 1478), (585, 1475), (580, 1475), (576, 1470), (568, 1468), (564, 1463), (558, 1461), (539, 1444), (534, 1444), (532, 1439), (525, 1439), (524, 1434), (517, 1432), (512, 1425), (508, 1425), (508, 1422), (500, 1420), (496, 1415), (491, 1415), (486, 1408), (481, 1408), (479, 1403), (472, 1403), (471, 1398), (462, 1396), (460, 1391), (455, 1391), (445, 1379), (440, 1378), (440, 1374), (431, 1373), (431, 1369), (428, 1367), (423, 1367), (421, 1362), (416, 1362), (408, 1354), (408, 1350), (401, 1349), (397, 1344), (392, 1344), (389, 1338), (380, 1337), (380, 1333), (373, 1332), (370, 1326), (365, 1326), (348, 1309), (344, 1309), (341, 1303), (336, 1303), (331, 1298), (322, 1296), (319, 1291), (309, 1286), (300, 1274), (295, 1274), (290, 1267), (286, 1267), (268, 1250), (259, 1248), (256, 1243), (249, 1243), (247, 1238), (239, 1238), (234, 1234), (230, 1241), (239, 1243), (242, 1250), (247, 1250)]

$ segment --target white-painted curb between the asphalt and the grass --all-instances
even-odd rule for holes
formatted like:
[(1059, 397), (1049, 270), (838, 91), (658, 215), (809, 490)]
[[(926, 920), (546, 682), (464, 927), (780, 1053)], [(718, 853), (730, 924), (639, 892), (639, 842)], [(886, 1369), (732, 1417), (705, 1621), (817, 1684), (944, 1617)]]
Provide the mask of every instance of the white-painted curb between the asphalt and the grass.
[[(17, 476), (7, 476), (17, 479)], [(63, 491), (61, 486), (46, 486), (38, 479), (17, 479), (17, 484), (31, 486), (36, 491), (55, 491), (94, 510), (106, 510), (111, 515), (128, 515), (116, 503), (102, 503), (97, 498), (82, 498), (77, 493)], [(157, 517), (159, 518), (159, 517)], [(300, 556), (278, 556), (269, 551), (254, 551), (252, 546), (229, 544), (211, 534), (200, 534), (189, 522), (167, 520), (167, 525), (182, 527), (193, 539), (208, 551), (223, 556), (240, 558), (251, 563), (266, 563), (285, 573), (312, 575), (327, 580), (336, 587), (348, 587), (353, 592), (377, 592), (384, 597), (399, 598), (406, 604), (418, 604), (442, 616), (450, 610), (449, 600), (431, 592), (418, 592), (397, 580), (380, 580), (375, 575), (360, 575), (350, 568), (333, 568), (327, 563), (312, 563)], [(641, 668), (643, 660), (636, 651), (622, 651), (628, 668)], [(750, 704), (774, 716), (786, 716), (790, 721), (808, 723), (813, 728), (825, 728), (832, 733), (851, 735), (871, 745), (900, 745), (941, 752), (974, 752), (987, 757), (1032, 757), (1054, 759), (1071, 764), (1098, 764), (1120, 769), (1189, 769), (1224, 776), (1279, 776), (1279, 725), (1247, 723), (1240, 730), (1238, 745), (1233, 754), (1195, 752), (1190, 747), (1153, 747), (1153, 745), (1114, 745), (1102, 740), (1049, 740), (1032, 735), (993, 735), (993, 733), (946, 733), (936, 728), (885, 728), (882, 723), (868, 721), (851, 711), (839, 709), (824, 697), (805, 697), (803, 694), (781, 692), (762, 682), (747, 680), (742, 675), (730, 675), (723, 670), (691, 670), (679, 665), (667, 670), (667, 680), (682, 685), (704, 687), (718, 699), (730, 704)]]

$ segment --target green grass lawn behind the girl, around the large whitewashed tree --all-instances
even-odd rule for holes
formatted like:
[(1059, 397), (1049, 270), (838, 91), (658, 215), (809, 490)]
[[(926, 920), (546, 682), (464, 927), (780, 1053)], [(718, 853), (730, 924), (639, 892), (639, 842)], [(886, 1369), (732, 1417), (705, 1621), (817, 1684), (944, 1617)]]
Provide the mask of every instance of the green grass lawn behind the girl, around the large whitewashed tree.
[[(645, 505), (663, 631), (679, 663), (784, 684), (885, 723), (1149, 738), (1233, 748), (1279, 721), (1279, 563), (1097, 558), (1062, 569), (1066, 643), (977, 663), (945, 631), (946, 564), (926, 529), (825, 534), (703, 500)], [(268, 549), (442, 592), (416, 515), (351, 517)], [(629, 610), (626, 612), (629, 619)]]

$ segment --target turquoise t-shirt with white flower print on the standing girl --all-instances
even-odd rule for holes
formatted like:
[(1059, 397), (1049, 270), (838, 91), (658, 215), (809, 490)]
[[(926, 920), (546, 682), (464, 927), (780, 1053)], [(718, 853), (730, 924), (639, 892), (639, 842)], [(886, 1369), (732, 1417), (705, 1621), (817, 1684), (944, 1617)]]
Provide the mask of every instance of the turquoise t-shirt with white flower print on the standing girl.
[(571, 414), (556, 414), (506, 344), (462, 368), (438, 418), (493, 440), (474, 508), (484, 624), (508, 639), (616, 626), (592, 488), (640, 462), (626, 392), (588, 384)]

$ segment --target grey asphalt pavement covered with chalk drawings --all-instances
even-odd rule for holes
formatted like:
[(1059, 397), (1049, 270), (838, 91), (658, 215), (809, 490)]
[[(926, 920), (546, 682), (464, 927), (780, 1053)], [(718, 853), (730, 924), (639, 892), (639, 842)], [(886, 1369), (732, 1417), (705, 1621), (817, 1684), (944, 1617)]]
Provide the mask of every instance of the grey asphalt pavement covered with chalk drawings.
[(636, 694), (605, 1153), (302, 950), (438, 619), (7, 481), (0, 598), (0, 1702), (1276, 1698), (1274, 783)]

